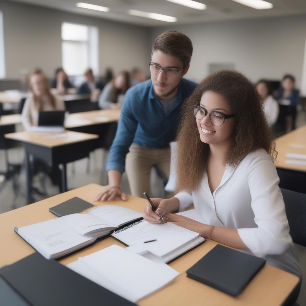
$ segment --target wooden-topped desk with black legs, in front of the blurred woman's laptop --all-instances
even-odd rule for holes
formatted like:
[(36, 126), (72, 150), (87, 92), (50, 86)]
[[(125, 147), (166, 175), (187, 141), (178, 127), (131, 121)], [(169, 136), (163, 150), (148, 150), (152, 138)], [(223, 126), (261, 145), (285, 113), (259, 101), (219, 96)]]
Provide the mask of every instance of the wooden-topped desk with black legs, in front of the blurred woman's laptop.
[(96, 147), (98, 135), (65, 131), (63, 133), (17, 132), (6, 138), (23, 143), (26, 153), (27, 198), (31, 202), (31, 173), (29, 155), (42, 160), (50, 167), (62, 164), (62, 191), (67, 190), (66, 165), (84, 157)]

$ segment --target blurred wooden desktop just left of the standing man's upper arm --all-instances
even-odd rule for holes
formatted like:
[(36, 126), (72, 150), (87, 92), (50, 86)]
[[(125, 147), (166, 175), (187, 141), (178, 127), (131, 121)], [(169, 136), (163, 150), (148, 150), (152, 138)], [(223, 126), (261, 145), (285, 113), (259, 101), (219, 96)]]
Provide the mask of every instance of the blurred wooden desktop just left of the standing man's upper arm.
[(86, 125), (95, 125), (118, 121), (120, 110), (92, 110), (69, 114), (65, 120), (65, 128), (76, 128)]

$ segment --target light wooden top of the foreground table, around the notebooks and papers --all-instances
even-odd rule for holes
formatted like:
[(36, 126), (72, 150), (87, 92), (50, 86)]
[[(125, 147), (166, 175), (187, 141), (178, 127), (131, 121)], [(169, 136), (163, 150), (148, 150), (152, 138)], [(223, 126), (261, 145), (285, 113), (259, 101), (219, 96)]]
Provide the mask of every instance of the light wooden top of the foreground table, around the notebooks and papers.
[[(0, 244), (5, 247), (2, 248), (4, 252), (2, 251), (0, 256), (0, 267), (14, 263), (34, 252), (30, 245), (14, 233), (13, 229), (15, 226), (21, 227), (56, 218), (48, 211), (49, 207), (62, 203), (74, 196), (78, 196), (92, 204), (101, 205), (101, 203), (93, 202), (93, 200), (102, 188), (100, 185), (90, 184), (1, 214)], [(118, 200), (108, 202), (107, 204), (109, 203), (119, 204), (140, 212), (145, 200), (128, 196), (126, 202)], [(60, 260), (60, 263), (66, 265), (75, 261), (79, 256), (91, 254), (111, 244), (118, 244), (124, 247), (123, 244), (109, 237)], [(281, 305), (299, 282), (297, 276), (276, 267), (265, 265), (240, 295), (231, 297), (217, 289), (187, 278), (185, 271), (200, 260), (215, 245), (215, 241), (207, 240), (204, 244), (170, 263), (170, 266), (181, 272), (181, 274), (170, 285), (140, 300), (137, 304), (141, 306)]]

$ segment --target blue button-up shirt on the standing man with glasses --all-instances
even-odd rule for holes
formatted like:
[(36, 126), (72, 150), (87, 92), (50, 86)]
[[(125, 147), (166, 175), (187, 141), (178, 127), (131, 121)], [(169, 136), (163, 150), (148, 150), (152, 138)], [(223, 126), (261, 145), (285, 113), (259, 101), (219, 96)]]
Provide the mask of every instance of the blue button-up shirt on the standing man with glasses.
[(175, 140), (181, 103), (196, 88), (196, 83), (181, 79), (177, 101), (165, 114), (155, 97), (151, 80), (130, 88), (125, 95), (115, 139), (110, 147), (106, 171), (125, 170), (125, 156), (132, 143), (146, 148), (163, 148)]

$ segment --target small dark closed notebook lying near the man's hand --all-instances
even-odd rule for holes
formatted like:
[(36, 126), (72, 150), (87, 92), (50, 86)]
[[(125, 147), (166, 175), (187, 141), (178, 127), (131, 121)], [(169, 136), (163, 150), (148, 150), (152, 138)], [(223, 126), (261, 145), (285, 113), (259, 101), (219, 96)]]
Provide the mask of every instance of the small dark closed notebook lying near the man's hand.
[(95, 205), (92, 205), (91, 203), (88, 203), (75, 196), (70, 200), (49, 208), (49, 211), (58, 217), (62, 217), (66, 215), (77, 214), (93, 206)]

